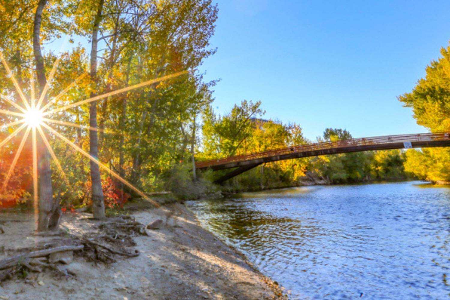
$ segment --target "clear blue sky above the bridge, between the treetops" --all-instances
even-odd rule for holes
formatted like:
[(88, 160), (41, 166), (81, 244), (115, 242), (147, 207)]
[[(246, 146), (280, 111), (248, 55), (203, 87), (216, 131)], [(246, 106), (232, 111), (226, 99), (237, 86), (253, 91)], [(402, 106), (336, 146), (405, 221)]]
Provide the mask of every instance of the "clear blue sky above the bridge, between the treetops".
[(214, 107), (261, 100), (266, 119), (354, 137), (419, 133), (396, 97), (412, 90), (450, 40), (449, 1), (218, 0), (202, 66)]

